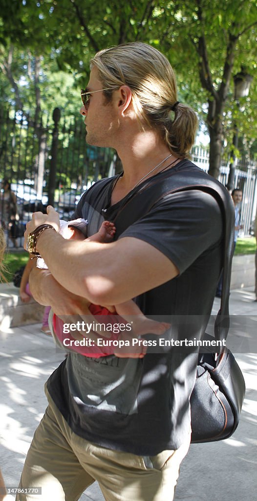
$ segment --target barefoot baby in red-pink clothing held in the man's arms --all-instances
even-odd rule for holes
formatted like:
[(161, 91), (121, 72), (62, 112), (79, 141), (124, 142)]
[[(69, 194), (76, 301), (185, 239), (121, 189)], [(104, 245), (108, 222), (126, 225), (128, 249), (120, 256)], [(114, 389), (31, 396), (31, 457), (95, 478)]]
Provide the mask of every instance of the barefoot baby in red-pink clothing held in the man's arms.
[[(86, 238), (86, 225), (87, 221), (81, 218), (74, 219), (73, 221), (60, 220), (59, 233), (63, 236), (63, 238), (66, 239), (84, 240)], [(86, 241), (108, 243), (113, 240), (114, 234), (115, 234), (114, 224), (109, 221), (103, 221), (97, 233), (94, 233), (90, 237), (87, 237)], [(39, 258), (37, 260), (37, 268), (47, 268), (42, 258)], [(108, 311), (107, 308), (105, 307), (92, 305), (91, 303), (88, 302), (88, 309), (93, 316), (110, 315), (112, 317), (112, 319), (110, 318), (110, 322), (112, 321), (113, 323), (113, 317), (114, 317), (114, 322), (117, 323), (117, 318), (115, 316), (118, 315), (119, 317), (122, 317), (121, 319), (119, 319), (120, 321), (124, 319), (127, 323), (129, 322), (132, 323), (133, 335), (130, 334), (129, 332), (118, 333), (118, 335), (112, 333), (110, 338), (112, 340), (118, 339), (122, 341), (130, 341), (132, 337), (139, 337), (140, 335), (149, 333), (161, 335), (170, 327), (170, 324), (167, 324), (165, 322), (155, 322), (145, 317), (141, 312), (141, 310), (138, 308), (138, 306), (132, 300), (126, 301), (125, 303), (120, 303), (119, 305), (114, 305), (114, 308), (115, 312), (113, 313)], [(95, 319), (93, 317), (93, 321), (94, 320)], [(58, 340), (62, 341), (63, 322), (55, 315), (53, 317), (53, 328), (54, 328), (54, 333), (57, 336)], [(98, 334), (102, 335), (101, 332), (98, 332)], [(65, 338), (67, 338), (66, 334)], [(83, 347), (82, 349), (76, 351), (79, 351), (79, 353), (81, 353), (84, 356), (94, 357), (94, 358), (108, 356), (112, 354), (114, 354), (116, 357), (121, 357), (121, 358), (123, 357), (142, 358), (146, 353), (146, 348), (138, 346), (136, 344), (135, 347), (133, 348), (131, 347), (131, 349), (129, 347), (129, 354), (127, 353), (127, 350), (124, 350), (124, 348), (122, 347), (121, 348), (113, 347), (111, 348), (111, 350), (105, 349), (104, 351), (102, 351), (100, 348), (97, 347), (94, 347), (91, 350), (90, 348), (86, 349)]]

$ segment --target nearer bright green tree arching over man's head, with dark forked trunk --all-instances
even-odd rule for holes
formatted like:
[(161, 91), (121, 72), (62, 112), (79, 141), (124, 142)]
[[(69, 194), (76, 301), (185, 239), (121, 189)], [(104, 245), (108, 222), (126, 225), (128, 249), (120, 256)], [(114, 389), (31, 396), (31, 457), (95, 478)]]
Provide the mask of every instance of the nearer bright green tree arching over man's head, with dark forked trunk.
[[(249, 72), (256, 68), (256, 7), (255, 0), (185, 0), (182, 4), (131, 0), (122, 6), (115, 0), (108, 6), (64, 0), (51, 4), (49, 29), (57, 41), (58, 64), (73, 68), (76, 64), (82, 75), (92, 52), (108, 45), (143, 40), (167, 54), (181, 83), (182, 97), (194, 101), (196, 108), (206, 109), (200, 116), (210, 138), (209, 173), (217, 177), (224, 127), (227, 123), (230, 144), (233, 116), (229, 111), (232, 108), (237, 113), (231, 106), (231, 77), (242, 63)], [(81, 57), (82, 51), (85, 57)], [(250, 97), (247, 108), (254, 108)], [(250, 133), (246, 122), (244, 138)]]

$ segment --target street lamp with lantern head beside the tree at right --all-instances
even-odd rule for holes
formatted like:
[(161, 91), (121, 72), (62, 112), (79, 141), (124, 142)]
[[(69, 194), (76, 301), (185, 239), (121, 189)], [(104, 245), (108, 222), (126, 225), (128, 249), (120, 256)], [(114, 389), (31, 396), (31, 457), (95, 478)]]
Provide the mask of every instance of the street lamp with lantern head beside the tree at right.
[[(236, 106), (239, 107), (239, 99), (241, 97), (246, 97), (249, 94), (250, 84), (252, 81), (251, 75), (246, 73), (243, 67), (241, 67), (241, 71), (233, 76), (234, 81), (234, 99), (236, 102)], [(231, 163), (229, 164), (229, 174), (227, 181), (227, 189), (232, 190), (234, 188), (234, 171), (235, 171), (235, 150), (238, 146), (238, 127), (237, 124), (234, 123), (233, 126), (233, 150), (231, 152)]]

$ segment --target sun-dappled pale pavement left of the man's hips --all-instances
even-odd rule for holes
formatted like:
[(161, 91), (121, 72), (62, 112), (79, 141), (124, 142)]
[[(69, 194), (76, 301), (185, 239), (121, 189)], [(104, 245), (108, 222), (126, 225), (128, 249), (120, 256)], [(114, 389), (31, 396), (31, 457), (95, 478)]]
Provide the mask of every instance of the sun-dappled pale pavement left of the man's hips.
[[(25, 329), (28, 329), (27, 332)], [(47, 405), (43, 386), (63, 359), (36, 326), (0, 331), (0, 456), (2, 448), (23, 463)]]

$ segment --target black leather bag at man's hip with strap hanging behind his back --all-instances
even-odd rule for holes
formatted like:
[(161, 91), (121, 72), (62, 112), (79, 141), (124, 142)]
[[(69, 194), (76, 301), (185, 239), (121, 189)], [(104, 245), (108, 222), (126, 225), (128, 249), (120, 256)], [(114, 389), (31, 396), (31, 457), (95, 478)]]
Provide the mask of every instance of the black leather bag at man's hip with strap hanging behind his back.
[[(220, 310), (214, 325), (217, 341), (226, 340), (229, 329), (228, 300), (233, 244), (226, 200), (222, 192), (219, 196), (223, 216), (223, 280)], [(204, 338), (214, 339), (206, 333)], [(206, 353), (205, 350), (205, 353), (199, 354), (196, 381), (190, 397), (191, 442), (211, 442), (231, 436), (239, 422), (244, 394), (242, 372), (227, 347), (218, 353), (213, 353), (213, 350)]]

